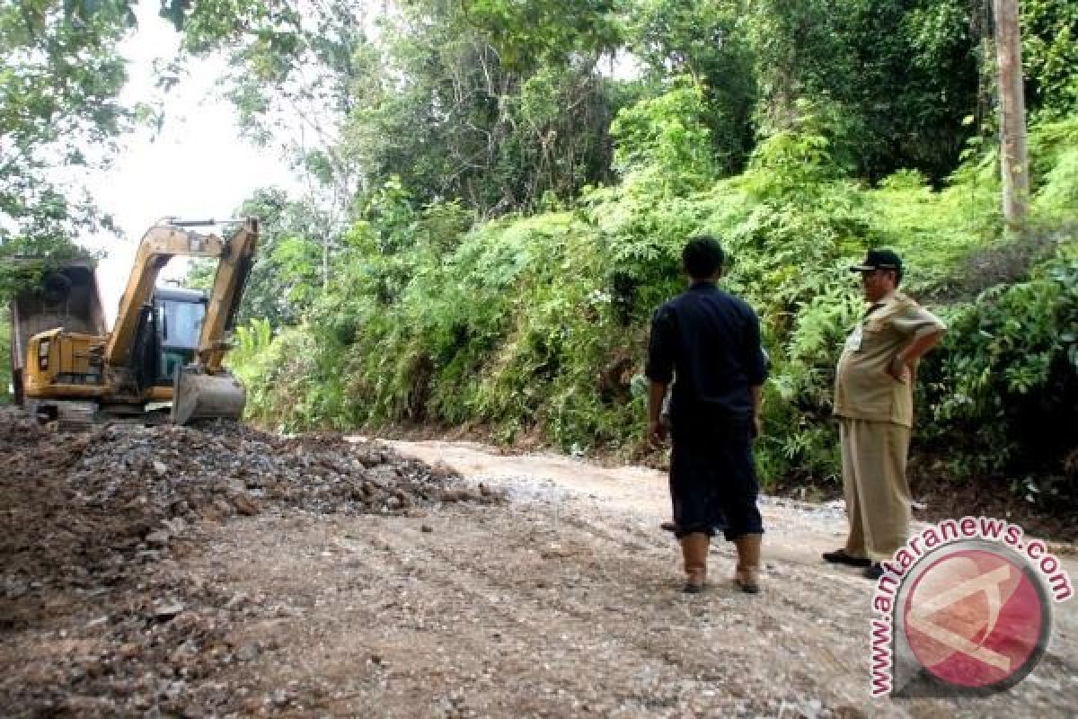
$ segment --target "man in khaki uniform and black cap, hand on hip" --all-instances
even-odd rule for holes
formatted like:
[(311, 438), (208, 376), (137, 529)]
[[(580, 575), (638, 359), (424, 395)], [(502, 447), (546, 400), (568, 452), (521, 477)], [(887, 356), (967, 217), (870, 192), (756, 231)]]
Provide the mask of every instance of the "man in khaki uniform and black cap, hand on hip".
[(834, 414), (842, 443), (842, 484), (849, 536), (826, 552), (832, 564), (865, 567), (879, 579), (880, 563), (909, 536), (910, 486), (906, 456), (913, 425), (916, 363), (946, 327), (898, 291), (902, 260), (890, 250), (869, 250), (861, 273), (868, 312), (846, 338), (834, 384)]

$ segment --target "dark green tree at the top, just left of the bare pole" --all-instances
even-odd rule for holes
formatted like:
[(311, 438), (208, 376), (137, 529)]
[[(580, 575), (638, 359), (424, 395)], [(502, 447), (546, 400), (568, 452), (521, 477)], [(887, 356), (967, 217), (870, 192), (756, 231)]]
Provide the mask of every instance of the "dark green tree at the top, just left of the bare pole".
[(979, 74), (965, 0), (761, 0), (750, 22), (764, 134), (797, 124), (798, 100), (844, 125), (835, 156), (860, 177), (899, 168), (942, 182), (971, 128)]

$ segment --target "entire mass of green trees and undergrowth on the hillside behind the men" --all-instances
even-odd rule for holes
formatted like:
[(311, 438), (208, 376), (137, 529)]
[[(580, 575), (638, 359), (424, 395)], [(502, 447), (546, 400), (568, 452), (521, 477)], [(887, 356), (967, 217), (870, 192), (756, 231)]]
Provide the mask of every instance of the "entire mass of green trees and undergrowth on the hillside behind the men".
[[(362, 177), (348, 220), (268, 223), (276, 284), (248, 301), (289, 319), (240, 332), (253, 416), (635, 447), (650, 313), (683, 286), (685, 238), (710, 232), (774, 358), (763, 474), (833, 483), (833, 365), (861, 310), (844, 266), (888, 245), (953, 326), (922, 371), (920, 446), (960, 432), (952, 474), (1062, 475), (1073, 441), (1031, 452), (1013, 430), (1048, 406), (1018, 398), (1048, 388), (1051, 421), (1075, 421), (1069, 10), (1025, 10), (1040, 229), (1008, 244), (991, 18), (958, 0), (839, 4), (580, 3), (579, 32), (554, 33), (541, 2), (401, 3), (360, 33), (341, 86), (329, 154)], [(604, 70), (613, 47), (635, 78)]]

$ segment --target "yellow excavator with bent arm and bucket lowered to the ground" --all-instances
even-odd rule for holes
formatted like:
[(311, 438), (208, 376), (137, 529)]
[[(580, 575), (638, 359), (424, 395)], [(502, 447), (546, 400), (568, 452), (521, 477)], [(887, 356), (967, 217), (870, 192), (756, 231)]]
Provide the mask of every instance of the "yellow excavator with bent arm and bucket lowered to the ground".
[[(222, 364), (244, 285), (254, 262), (258, 220), (227, 239), (163, 220), (139, 244), (111, 332), (105, 332), (93, 266), (72, 262), (12, 303), (15, 399), (43, 423), (80, 429), (101, 419), (175, 424), (238, 419), (239, 381)], [(157, 288), (174, 257), (217, 260), (208, 293)]]

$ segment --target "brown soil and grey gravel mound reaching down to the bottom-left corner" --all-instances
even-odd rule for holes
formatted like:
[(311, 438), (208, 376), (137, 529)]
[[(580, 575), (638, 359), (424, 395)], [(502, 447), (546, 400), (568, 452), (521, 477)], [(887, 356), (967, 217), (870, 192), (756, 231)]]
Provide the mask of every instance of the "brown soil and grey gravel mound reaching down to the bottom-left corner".
[[(272, 646), (232, 641), (267, 596), (192, 583), (175, 559), (206, 523), (264, 512), (420, 514), (502, 501), (443, 465), (335, 434), (280, 438), (233, 423), (80, 434), (0, 407), (0, 705), (9, 716), (288, 713), (317, 687), (221, 682)], [(309, 516), (309, 514), (308, 514)], [(22, 661), (17, 637), (42, 648)], [(18, 667), (18, 670), (14, 670)], [(262, 688), (264, 690), (264, 688)]]

